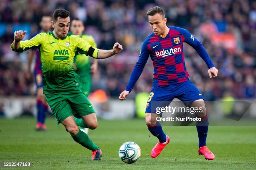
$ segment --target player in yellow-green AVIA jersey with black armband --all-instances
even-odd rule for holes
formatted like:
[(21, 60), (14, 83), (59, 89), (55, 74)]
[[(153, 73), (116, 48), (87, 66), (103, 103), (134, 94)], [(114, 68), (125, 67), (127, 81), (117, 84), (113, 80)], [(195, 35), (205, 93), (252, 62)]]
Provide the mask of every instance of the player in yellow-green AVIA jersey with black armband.
[[(38, 48), (43, 71), (43, 91), (58, 123), (62, 123), (72, 138), (85, 148), (92, 150), (92, 160), (100, 160), (102, 152), (86, 133), (77, 127), (97, 128), (95, 111), (85, 94), (79, 87), (74, 72), (74, 56), (79, 53), (94, 58), (108, 58), (118, 54), (123, 47), (115, 43), (112, 50), (100, 50), (91, 47), (78, 35), (68, 33), (70, 24), (69, 12), (58, 9), (54, 11), (52, 32), (37, 34), (31, 40), (23, 40), (26, 31), (14, 32), (14, 41), (10, 48), (16, 52), (24, 52)], [(75, 117), (82, 121), (75, 122)]]

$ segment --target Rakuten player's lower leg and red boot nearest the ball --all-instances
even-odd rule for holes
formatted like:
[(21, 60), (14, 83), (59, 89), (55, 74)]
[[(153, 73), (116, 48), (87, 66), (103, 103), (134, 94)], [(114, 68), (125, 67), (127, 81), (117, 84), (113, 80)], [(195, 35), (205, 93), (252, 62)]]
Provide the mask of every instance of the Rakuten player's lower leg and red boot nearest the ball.
[(156, 113), (146, 113), (146, 125), (148, 126), (149, 132), (156, 136), (159, 139), (159, 142), (156, 143), (154, 148), (151, 150), (151, 157), (156, 158), (162, 150), (166, 147), (166, 145), (170, 142), (169, 136), (167, 136), (161, 124), (156, 120), (158, 117)]

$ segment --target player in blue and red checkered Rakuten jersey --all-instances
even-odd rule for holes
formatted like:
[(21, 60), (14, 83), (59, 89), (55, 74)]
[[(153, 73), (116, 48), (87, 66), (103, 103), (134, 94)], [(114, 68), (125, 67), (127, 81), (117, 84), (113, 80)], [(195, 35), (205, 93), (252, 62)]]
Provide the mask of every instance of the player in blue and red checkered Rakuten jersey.
[[(159, 139), (151, 151), (151, 157), (156, 158), (169, 143), (170, 138), (163, 132), (161, 124), (156, 120), (159, 115), (156, 114), (155, 109), (151, 108), (152, 102), (172, 101), (176, 97), (189, 103), (187, 104), (189, 107), (203, 106), (205, 108), (202, 94), (189, 80), (189, 73), (184, 62), (183, 43), (186, 42), (192, 46), (202, 57), (209, 68), (210, 78), (217, 77), (218, 70), (214, 67), (201, 42), (193, 35), (183, 28), (166, 26), (167, 19), (161, 7), (151, 8), (147, 15), (153, 33), (142, 43), (138, 62), (133, 68), (128, 85), (120, 94), (119, 100), (125, 100), (131, 92), (146, 65), (148, 56), (150, 56), (154, 65), (154, 81), (146, 105), (146, 125), (151, 134)], [(198, 153), (204, 155), (205, 159), (213, 160), (215, 156), (206, 146), (209, 125), (206, 110), (198, 112), (197, 117), (202, 118), (202, 121), (197, 121)]]

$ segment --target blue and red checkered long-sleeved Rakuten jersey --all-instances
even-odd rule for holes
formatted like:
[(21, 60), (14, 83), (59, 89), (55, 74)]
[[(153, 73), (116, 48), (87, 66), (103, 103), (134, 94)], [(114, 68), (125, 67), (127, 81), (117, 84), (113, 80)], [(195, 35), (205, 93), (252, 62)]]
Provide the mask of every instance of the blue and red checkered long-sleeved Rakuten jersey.
[(202, 43), (193, 37), (189, 31), (174, 26), (168, 27), (169, 32), (167, 35), (157, 36), (153, 32), (144, 40), (139, 59), (133, 68), (125, 90), (131, 92), (149, 56), (154, 65), (153, 85), (166, 86), (189, 80), (189, 73), (186, 70), (184, 61), (184, 42), (188, 43), (197, 51), (200, 57), (206, 62), (208, 68), (214, 67)]

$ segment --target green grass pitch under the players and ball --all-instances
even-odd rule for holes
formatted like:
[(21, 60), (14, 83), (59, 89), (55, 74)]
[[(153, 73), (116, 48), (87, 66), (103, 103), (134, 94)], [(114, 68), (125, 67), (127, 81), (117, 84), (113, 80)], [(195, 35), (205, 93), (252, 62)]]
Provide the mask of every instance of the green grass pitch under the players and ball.
[[(89, 136), (102, 149), (102, 160), (92, 161), (90, 151), (75, 143), (62, 125), (56, 125), (56, 120), (51, 117), (46, 120), (47, 132), (36, 132), (35, 121), (33, 117), (0, 119), (0, 169), (3, 162), (30, 162), (28, 169), (36, 170), (234, 170), (256, 167), (256, 126), (210, 126), (207, 146), (215, 154), (215, 160), (205, 160), (197, 154), (195, 126), (164, 126), (171, 142), (158, 158), (153, 159), (150, 151), (157, 139), (148, 132), (144, 120), (99, 120), (98, 128), (90, 130)], [(118, 157), (120, 145), (127, 141), (141, 147), (141, 158), (134, 164), (125, 164)]]

